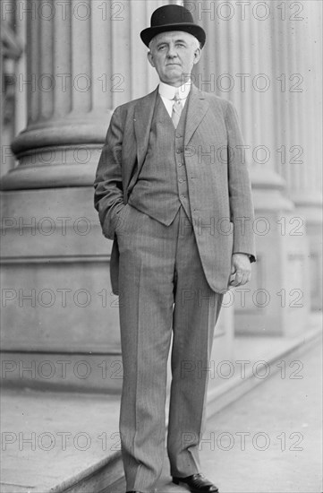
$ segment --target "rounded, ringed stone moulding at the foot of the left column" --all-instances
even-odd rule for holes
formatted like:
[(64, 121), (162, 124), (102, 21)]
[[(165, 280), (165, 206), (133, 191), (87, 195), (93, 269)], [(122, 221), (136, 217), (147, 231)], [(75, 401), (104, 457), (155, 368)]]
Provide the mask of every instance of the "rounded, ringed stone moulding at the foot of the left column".
[(92, 186), (112, 111), (29, 125), (12, 143), (19, 166), (2, 190)]

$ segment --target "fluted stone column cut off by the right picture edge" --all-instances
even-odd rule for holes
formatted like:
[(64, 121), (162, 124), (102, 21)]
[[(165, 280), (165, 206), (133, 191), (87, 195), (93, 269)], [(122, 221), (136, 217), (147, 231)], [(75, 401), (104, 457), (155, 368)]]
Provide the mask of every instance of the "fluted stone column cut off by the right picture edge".
[[(291, 4), (292, 5), (292, 4)], [(293, 4), (293, 11), (295, 5)], [(296, 205), (319, 206), (322, 192), (319, 135), (321, 134), (321, 19), (322, 4), (306, 2), (280, 31), (281, 43), (290, 47), (283, 59), (287, 82), (282, 110), (288, 116), (286, 144), (290, 151), (288, 166), (282, 166), (290, 195)], [(288, 111), (289, 108), (289, 111)]]

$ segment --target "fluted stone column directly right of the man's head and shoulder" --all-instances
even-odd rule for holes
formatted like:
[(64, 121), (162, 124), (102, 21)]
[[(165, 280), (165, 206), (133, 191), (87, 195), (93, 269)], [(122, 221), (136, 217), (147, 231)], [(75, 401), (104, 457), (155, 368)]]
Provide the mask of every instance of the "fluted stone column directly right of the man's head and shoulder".
[(217, 0), (187, 2), (187, 6), (208, 35), (196, 80), (201, 89), (230, 99), (238, 110), (256, 207), (267, 201), (268, 206), (293, 209), (293, 203), (282, 194), (285, 181), (276, 172), (273, 120), (277, 82), (271, 61), (270, 5), (269, 13), (259, 3)]

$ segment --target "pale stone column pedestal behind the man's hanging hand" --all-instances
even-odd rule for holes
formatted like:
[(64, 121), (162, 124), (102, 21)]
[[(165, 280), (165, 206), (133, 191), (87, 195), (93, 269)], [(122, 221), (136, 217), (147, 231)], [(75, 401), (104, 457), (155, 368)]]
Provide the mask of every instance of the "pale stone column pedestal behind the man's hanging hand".
[(305, 220), (283, 195), (281, 177), (270, 171), (251, 177), (257, 263), (251, 282), (234, 290), (235, 333), (297, 335), (310, 309)]

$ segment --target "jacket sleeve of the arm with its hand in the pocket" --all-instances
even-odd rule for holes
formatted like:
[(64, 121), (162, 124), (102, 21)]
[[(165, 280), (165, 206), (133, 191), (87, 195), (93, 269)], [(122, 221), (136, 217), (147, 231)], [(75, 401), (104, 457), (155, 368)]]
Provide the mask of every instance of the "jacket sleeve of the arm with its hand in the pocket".
[(122, 146), (123, 124), (119, 107), (111, 117), (94, 181), (94, 206), (98, 211), (103, 234), (109, 239), (115, 238), (117, 214), (124, 206)]

